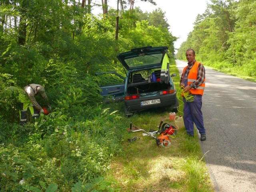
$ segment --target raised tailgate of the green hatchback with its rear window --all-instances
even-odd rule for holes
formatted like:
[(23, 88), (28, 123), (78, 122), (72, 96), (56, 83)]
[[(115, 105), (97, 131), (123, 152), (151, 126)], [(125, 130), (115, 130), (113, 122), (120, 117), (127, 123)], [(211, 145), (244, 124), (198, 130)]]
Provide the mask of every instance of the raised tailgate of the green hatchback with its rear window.
[(161, 68), (165, 53), (168, 54), (167, 46), (147, 46), (131, 49), (116, 57), (127, 70), (141, 70)]

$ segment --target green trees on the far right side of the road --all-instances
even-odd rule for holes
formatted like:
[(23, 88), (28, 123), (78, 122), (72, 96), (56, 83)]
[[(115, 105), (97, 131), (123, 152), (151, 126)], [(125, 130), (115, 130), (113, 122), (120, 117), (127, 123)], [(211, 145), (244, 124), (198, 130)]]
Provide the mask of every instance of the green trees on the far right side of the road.
[(176, 57), (186, 60), (186, 50), (193, 48), (208, 66), (256, 78), (255, 10), (254, 0), (211, 0)]

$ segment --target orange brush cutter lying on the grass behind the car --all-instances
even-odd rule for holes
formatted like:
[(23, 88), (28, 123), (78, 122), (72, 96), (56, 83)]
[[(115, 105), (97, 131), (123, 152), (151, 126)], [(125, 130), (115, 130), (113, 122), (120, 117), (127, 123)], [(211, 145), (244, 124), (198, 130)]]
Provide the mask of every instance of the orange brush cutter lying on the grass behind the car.
[[(156, 144), (160, 147), (170, 147), (171, 140), (170, 136), (175, 135), (177, 130), (174, 126), (164, 123), (161, 120), (160, 124), (158, 126), (158, 130), (150, 130), (150, 132), (146, 132), (144, 129), (138, 129), (138, 130), (132, 130), (132, 122), (130, 122), (130, 132), (139, 132), (142, 131), (148, 136), (152, 136), (154, 139), (156, 139)], [(157, 134), (160, 134), (160, 136), (156, 136)]]

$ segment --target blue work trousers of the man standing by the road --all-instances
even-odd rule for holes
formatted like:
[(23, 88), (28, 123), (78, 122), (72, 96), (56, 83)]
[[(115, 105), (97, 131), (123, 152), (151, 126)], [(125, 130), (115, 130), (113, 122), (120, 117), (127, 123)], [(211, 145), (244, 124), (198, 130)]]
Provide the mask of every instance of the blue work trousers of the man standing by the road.
[(202, 108), (202, 95), (194, 95), (194, 101), (187, 102), (183, 97), (184, 102), (184, 125), (186, 131), (190, 135), (194, 135), (194, 123), (200, 134), (205, 134), (204, 118), (201, 111)]

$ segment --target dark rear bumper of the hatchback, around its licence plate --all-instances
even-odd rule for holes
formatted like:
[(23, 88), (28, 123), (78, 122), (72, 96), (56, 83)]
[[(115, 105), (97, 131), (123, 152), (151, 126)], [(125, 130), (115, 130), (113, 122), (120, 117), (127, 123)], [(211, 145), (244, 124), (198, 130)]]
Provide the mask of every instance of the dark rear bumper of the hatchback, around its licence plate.
[[(142, 101), (154, 100), (154, 99), (160, 99), (160, 103), (141, 106)], [(124, 105), (126, 107), (126, 110), (129, 112), (158, 108), (158, 107), (167, 107), (167, 106), (170, 106), (170, 107), (173, 107), (174, 109), (176, 109), (176, 108), (178, 108), (178, 100), (177, 100), (176, 92), (175, 92), (173, 94), (124, 100)]]

